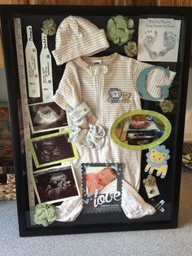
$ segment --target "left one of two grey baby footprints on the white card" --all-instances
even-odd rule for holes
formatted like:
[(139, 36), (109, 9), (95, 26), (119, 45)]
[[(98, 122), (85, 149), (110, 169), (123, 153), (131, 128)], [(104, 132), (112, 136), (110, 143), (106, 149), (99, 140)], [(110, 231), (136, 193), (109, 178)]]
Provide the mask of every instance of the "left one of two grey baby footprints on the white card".
[(157, 38), (157, 31), (154, 31), (154, 33), (152, 33), (152, 31), (147, 30), (147, 32), (145, 33), (146, 38), (143, 39), (143, 46), (145, 46), (146, 51), (148, 52), (148, 54), (151, 57), (151, 60), (156, 60), (157, 59), (157, 54), (155, 51), (152, 51), (151, 48), (154, 45), (156, 38)]

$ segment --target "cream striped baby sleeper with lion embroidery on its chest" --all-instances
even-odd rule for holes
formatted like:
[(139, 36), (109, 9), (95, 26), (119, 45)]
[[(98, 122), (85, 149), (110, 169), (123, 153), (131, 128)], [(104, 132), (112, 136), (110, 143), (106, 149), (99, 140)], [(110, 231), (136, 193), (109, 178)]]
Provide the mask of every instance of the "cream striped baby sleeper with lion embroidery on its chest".
[[(98, 118), (97, 123), (106, 131), (103, 148), (86, 148), (78, 144), (79, 159), (73, 161), (76, 177), (81, 188), (81, 163), (119, 162), (123, 169), (122, 209), (128, 218), (141, 218), (154, 214), (155, 209), (138, 194), (141, 178), (141, 151), (120, 148), (110, 137), (113, 122), (129, 110), (141, 109), (137, 91), (137, 77), (144, 68), (151, 67), (137, 60), (114, 53), (104, 57), (79, 57), (68, 61), (55, 93), (54, 100), (65, 110), (74, 109), (85, 101)], [(169, 77), (155, 68), (147, 77), (147, 91), (160, 97), (158, 86), (171, 85), (176, 73)], [(124, 95), (121, 100), (118, 94)], [(73, 221), (82, 210), (82, 198), (68, 199), (58, 206), (57, 220)]]

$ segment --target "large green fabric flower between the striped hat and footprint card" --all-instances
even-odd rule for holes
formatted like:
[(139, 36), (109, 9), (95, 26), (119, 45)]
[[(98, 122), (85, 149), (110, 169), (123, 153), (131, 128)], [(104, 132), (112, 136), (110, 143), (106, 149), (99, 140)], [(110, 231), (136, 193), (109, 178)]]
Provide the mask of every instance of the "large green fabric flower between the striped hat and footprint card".
[(130, 41), (134, 32), (134, 21), (122, 15), (111, 17), (107, 23), (107, 38), (118, 46)]

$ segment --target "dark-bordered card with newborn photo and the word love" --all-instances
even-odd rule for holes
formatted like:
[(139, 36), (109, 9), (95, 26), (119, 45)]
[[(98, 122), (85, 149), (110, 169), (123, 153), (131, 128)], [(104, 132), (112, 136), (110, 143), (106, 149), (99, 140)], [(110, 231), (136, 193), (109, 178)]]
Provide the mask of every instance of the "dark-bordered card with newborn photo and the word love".
[(120, 164), (81, 165), (85, 214), (121, 210), (122, 171)]

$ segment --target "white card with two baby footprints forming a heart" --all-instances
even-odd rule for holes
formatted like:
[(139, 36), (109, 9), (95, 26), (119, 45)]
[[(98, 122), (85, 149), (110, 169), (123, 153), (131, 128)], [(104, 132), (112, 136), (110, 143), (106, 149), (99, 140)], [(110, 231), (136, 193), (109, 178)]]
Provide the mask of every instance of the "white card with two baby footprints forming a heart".
[(177, 62), (181, 20), (139, 19), (137, 60)]

